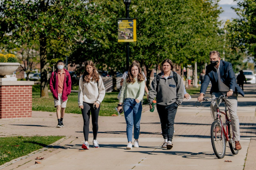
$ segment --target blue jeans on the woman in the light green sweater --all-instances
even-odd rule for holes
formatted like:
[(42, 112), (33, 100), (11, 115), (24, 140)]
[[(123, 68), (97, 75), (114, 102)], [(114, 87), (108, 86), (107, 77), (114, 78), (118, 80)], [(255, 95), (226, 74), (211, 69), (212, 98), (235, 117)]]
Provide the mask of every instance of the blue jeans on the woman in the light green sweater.
[(133, 98), (126, 98), (123, 102), (123, 111), (126, 121), (126, 135), (128, 142), (132, 142), (133, 125), (134, 125), (134, 139), (139, 139), (140, 134), (140, 119), (142, 104), (137, 103)]

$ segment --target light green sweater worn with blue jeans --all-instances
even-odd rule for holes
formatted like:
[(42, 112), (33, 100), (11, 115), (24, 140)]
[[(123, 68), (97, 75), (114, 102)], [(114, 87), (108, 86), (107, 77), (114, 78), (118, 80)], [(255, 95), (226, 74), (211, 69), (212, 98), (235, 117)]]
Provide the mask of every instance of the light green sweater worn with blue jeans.
[(127, 83), (127, 79), (124, 79), (123, 86), (121, 88), (120, 92), (120, 99), (119, 103), (123, 103), (123, 100), (125, 98), (133, 98), (138, 99), (139, 101), (142, 101), (142, 98), (144, 96), (144, 90), (145, 90), (145, 81), (137, 82), (137, 79), (135, 78), (135, 83)]

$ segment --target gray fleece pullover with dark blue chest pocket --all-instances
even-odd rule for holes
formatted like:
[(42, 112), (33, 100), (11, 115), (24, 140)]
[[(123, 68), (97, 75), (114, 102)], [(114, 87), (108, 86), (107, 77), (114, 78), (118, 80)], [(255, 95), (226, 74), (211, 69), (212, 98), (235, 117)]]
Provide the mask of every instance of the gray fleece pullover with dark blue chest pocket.
[(163, 77), (163, 72), (162, 72), (162, 75), (160, 76), (160, 80), (158, 84), (158, 91), (156, 91), (157, 82), (155, 77), (150, 85), (148, 102), (152, 103), (154, 98), (156, 97), (156, 103), (159, 105), (169, 106), (174, 102), (176, 102), (178, 106), (181, 105), (184, 98), (184, 86), (183, 86), (183, 81), (181, 79), (181, 76), (178, 74), (177, 76), (178, 76), (178, 83), (176, 87), (176, 83), (173, 78), (173, 72), (171, 71), (167, 79)]

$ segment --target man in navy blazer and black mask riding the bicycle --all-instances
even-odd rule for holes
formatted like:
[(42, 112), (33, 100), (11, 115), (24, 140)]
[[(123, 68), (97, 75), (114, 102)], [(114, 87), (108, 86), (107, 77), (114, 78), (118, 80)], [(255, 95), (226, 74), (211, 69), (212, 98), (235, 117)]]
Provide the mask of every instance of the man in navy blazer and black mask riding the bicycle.
[[(244, 97), (243, 90), (236, 83), (236, 77), (230, 62), (221, 60), (220, 52), (210, 52), (210, 62), (206, 66), (206, 74), (204, 81), (201, 85), (200, 96), (197, 98), (198, 101), (203, 101), (203, 96), (206, 94), (206, 89), (211, 81), (210, 94), (212, 99), (219, 97), (223, 94), (227, 94), (228, 98), (224, 98), (228, 106), (228, 111), (231, 118), (232, 129), (233, 129), (233, 140), (235, 141), (235, 149), (240, 150), (240, 130), (239, 120), (237, 116), (237, 93)], [(214, 120), (217, 120), (216, 105), (211, 105), (211, 114), (213, 114)]]

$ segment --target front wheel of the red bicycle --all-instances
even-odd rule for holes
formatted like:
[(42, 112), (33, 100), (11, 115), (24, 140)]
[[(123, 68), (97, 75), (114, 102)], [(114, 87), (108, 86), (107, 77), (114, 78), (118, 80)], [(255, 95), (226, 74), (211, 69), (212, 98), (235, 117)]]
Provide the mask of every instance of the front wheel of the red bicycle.
[(213, 146), (213, 151), (217, 158), (223, 158), (226, 152), (225, 136), (221, 128), (219, 121), (214, 121), (213, 124), (211, 124), (211, 145)]

